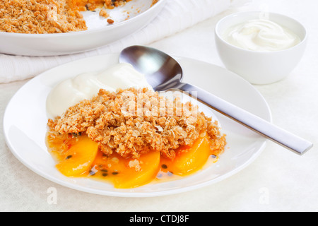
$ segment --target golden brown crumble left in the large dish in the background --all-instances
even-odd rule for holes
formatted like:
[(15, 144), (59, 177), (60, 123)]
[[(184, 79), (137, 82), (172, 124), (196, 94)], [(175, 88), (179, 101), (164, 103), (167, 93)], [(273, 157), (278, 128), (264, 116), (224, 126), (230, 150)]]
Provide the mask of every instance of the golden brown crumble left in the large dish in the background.
[(47, 34), (86, 30), (66, 0), (1, 0), (0, 32)]

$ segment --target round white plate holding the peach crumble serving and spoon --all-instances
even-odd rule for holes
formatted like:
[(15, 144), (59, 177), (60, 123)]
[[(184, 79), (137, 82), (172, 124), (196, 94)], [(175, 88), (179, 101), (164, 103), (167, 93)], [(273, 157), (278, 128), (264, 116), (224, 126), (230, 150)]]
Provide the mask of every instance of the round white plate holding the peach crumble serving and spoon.
[[(198, 85), (271, 121), (271, 112), (264, 98), (240, 76), (219, 66), (194, 59), (175, 59), (182, 65), (185, 82)], [(216, 115), (222, 125), (222, 132), (227, 134), (228, 145), (218, 162), (192, 176), (173, 182), (148, 184), (136, 189), (114, 189), (111, 184), (88, 178), (64, 177), (55, 168), (55, 162), (45, 146), (47, 95), (54, 85), (65, 78), (83, 72), (99, 71), (116, 64), (117, 61), (118, 54), (73, 61), (42, 73), (23, 85), (8, 103), (4, 114), (4, 135), (13, 155), (35, 173), (71, 189), (107, 196), (147, 197), (177, 194), (220, 182), (247, 167), (266, 146), (266, 139), (257, 133), (218, 112), (204, 109), (205, 113), (210, 111)]]

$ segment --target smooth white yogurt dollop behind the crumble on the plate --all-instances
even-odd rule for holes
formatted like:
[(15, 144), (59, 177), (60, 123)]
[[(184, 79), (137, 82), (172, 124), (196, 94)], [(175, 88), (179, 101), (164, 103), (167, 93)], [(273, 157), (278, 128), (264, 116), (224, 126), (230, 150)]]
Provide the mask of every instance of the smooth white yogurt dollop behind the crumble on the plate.
[(54, 119), (82, 100), (91, 99), (100, 89), (149, 88), (145, 76), (130, 64), (115, 64), (98, 73), (82, 73), (59, 83), (47, 96), (47, 114)]

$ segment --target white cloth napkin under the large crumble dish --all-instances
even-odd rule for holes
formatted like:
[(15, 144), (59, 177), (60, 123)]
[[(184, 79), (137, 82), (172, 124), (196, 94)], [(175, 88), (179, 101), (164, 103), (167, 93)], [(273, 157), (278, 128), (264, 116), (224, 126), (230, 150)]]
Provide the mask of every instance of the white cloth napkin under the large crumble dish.
[(122, 40), (89, 52), (55, 57), (0, 54), (0, 83), (32, 78), (54, 66), (100, 54), (120, 52), (134, 44), (150, 44), (225, 11), (242, 0), (167, 0), (163, 11), (143, 29)]

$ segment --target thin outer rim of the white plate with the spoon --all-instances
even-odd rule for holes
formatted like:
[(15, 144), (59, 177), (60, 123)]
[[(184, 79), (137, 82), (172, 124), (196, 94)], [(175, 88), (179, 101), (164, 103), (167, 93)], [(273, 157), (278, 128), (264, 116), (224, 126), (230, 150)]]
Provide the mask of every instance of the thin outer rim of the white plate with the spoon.
[[(216, 184), (220, 181), (223, 181), (224, 179), (227, 179), (228, 177), (232, 177), (232, 175), (237, 174), (238, 172), (240, 172), (242, 169), (245, 169), (248, 165), (250, 165), (252, 162), (254, 162), (254, 160), (257, 159), (257, 157), (259, 157), (259, 155), (261, 155), (261, 153), (263, 152), (264, 148), (266, 148), (266, 145), (268, 143), (267, 139), (264, 139), (264, 142), (262, 143), (262, 145), (258, 148), (258, 150), (254, 153), (254, 155), (252, 157), (249, 158), (249, 160), (247, 160), (246, 162), (244, 162), (244, 164), (240, 165), (240, 167), (237, 167), (235, 169), (233, 169), (232, 171), (221, 175), (220, 177), (217, 177), (215, 179), (212, 180), (208, 180), (206, 182), (201, 182), (200, 184), (195, 184), (192, 186), (184, 186), (182, 188), (177, 188), (177, 189), (169, 189), (166, 191), (151, 191), (151, 192), (129, 192), (131, 189), (129, 190), (125, 190), (123, 189), (121, 190), (117, 190), (116, 192), (114, 191), (100, 191), (98, 189), (91, 189), (89, 187), (83, 187), (83, 186), (78, 186), (77, 184), (71, 184), (69, 182), (64, 182), (60, 179), (57, 179), (55, 177), (52, 177), (52, 175), (49, 174), (45, 174), (43, 172), (41, 172), (40, 170), (34, 169), (31, 165), (28, 164), (27, 161), (23, 160), (22, 157), (20, 157), (20, 155), (18, 155), (18, 153), (16, 152), (16, 150), (14, 150), (10, 139), (8, 138), (8, 134), (6, 133), (6, 117), (8, 114), (8, 109), (9, 107), (12, 105), (12, 102), (14, 100), (14, 98), (18, 95), (18, 93), (20, 93), (25, 87), (27, 87), (30, 83), (33, 83), (36, 80), (40, 80), (42, 78), (42, 76), (45, 76), (45, 73), (49, 73), (49, 71), (52, 70), (56, 70), (61, 66), (67, 66), (68, 64), (74, 64), (76, 62), (80, 62), (80, 61), (86, 61), (89, 59), (94, 59), (94, 58), (102, 58), (102, 57), (110, 57), (110, 56), (119, 56), (119, 53), (114, 53), (114, 54), (102, 54), (99, 56), (94, 56), (94, 57), (86, 57), (83, 59), (78, 59), (76, 61), (71, 61), (68, 62), (66, 64), (61, 64), (59, 66), (56, 66), (52, 69), (49, 69), (47, 71), (44, 71), (42, 73), (40, 73), (38, 76), (35, 76), (34, 78), (31, 78), (30, 81), (28, 81), (27, 83), (25, 83), (23, 86), (21, 86), (18, 91), (11, 97), (11, 100), (9, 100), (8, 104), (6, 105), (5, 111), (4, 111), (4, 117), (3, 117), (3, 132), (4, 132), (4, 140), (6, 142), (6, 145), (8, 146), (9, 150), (11, 150), (11, 153), (20, 161), (23, 163), (23, 165), (25, 165), (25, 167), (28, 167), (28, 169), (32, 170), (33, 172), (35, 172), (36, 174), (40, 175), (41, 177), (48, 179), (51, 182), (54, 182), (55, 184), (59, 184), (61, 186), (65, 186), (68, 187), (69, 189), (75, 189), (77, 191), (83, 191), (86, 193), (90, 193), (90, 194), (98, 194), (98, 195), (102, 195), (102, 196), (114, 196), (114, 197), (156, 197), (156, 196), (168, 196), (168, 195), (172, 195), (172, 194), (181, 194), (183, 192), (186, 191), (193, 191), (195, 189), (200, 189), (202, 187), (211, 185), (211, 184)], [(228, 71), (228, 69), (224, 69), (221, 66), (215, 65), (215, 64), (210, 64), (206, 61), (201, 61), (198, 59), (192, 59), (190, 57), (180, 57), (177, 55), (172, 55), (172, 57), (174, 57), (175, 59), (185, 59), (185, 60), (190, 60), (190, 61), (196, 61), (196, 62), (201, 62), (204, 64), (209, 64), (211, 66), (216, 66), (224, 71), (227, 71), (228, 73), (232, 73), (232, 76), (236, 76), (237, 79), (241, 79), (242, 81), (245, 81), (246, 83), (248, 83), (244, 78), (238, 76), (236, 73), (233, 73), (232, 71)], [(254, 88), (254, 86), (250, 83), (248, 83), (249, 85), (251, 85), (251, 87), (253, 88), (253, 90), (259, 94), (259, 96), (264, 100), (264, 104), (266, 105), (266, 109), (268, 110), (267, 113), (269, 113), (269, 119), (267, 119), (268, 121), (272, 121), (272, 113), (271, 113), (271, 109), (269, 108), (268, 103), (266, 102), (265, 98), (263, 97), (263, 95), (261, 95), (261, 93), (259, 92), (259, 90), (257, 90), (256, 88)], [(125, 192), (126, 191), (126, 192)]]

